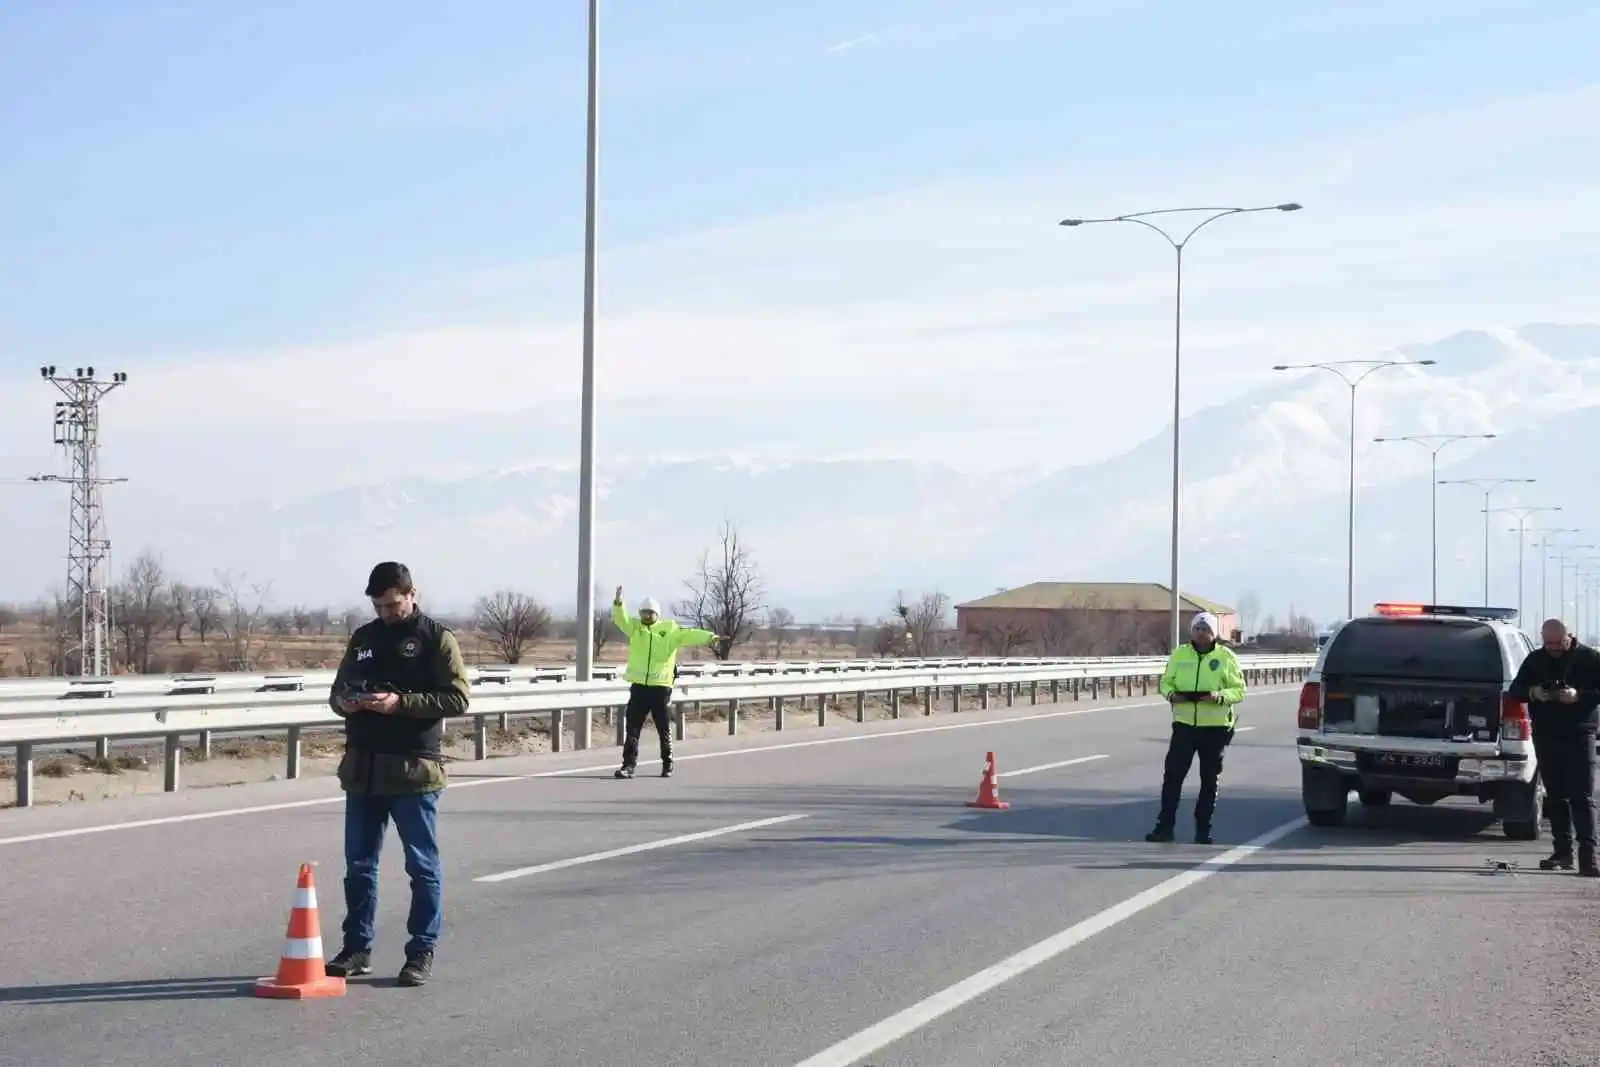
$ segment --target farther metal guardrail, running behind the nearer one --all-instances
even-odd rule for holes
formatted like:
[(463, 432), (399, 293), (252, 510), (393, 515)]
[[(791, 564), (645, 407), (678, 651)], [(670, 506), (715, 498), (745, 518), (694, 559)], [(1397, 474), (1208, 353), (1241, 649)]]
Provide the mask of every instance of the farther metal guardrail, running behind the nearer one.
[[(1120, 662), (1126, 656), (941, 656), (926, 659), (757, 659), (757, 661), (678, 661), (685, 678), (722, 678), (746, 675), (845, 673), (853, 670), (933, 670), (944, 667), (1035, 667), (1051, 664)], [(568, 681), (571, 664), (539, 665), (469, 665), (474, 685)], [(610, 681), (621, 675), (622, 664), (595, 664), (592, 677)], [(0, 707), (14, 701), (38, 699), (109, 699), (118, 696), (214, 696), (218, 693), (286, 693), (333, 685), (333, 670), (274, 672), (194, 672), (178, 675), (114, 675), (109, 678), (0, 678)]]

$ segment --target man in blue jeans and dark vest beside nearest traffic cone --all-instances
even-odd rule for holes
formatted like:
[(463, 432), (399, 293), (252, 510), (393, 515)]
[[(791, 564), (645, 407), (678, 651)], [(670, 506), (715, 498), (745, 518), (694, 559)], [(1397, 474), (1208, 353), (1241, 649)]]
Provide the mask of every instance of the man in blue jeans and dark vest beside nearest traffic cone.
[(344, 945), (328, 974), (373, 973), (378, 854), (394, 819), (411, 878), (402, 985), (434, 969), (443, 925), (438, 797), (445, 790), (442, 720), (464, 715), (472, 683), (456, 635), (416, 606), (403, 563), (379, 563), (366, 582), (378, 617), (350, 635), (328, 702), (344, 718)]

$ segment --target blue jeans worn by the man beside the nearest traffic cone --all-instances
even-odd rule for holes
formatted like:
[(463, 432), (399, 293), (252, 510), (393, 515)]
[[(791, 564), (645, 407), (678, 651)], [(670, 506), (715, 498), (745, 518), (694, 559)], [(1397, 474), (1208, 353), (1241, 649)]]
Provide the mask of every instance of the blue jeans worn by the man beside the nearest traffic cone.
[[(440, 790), (443, 792), (443, 790)], [(445, 923), (445, 889), (438, 862), (438, 792), (382, 797), (347, 793), (344, 798), (344, 947), (371, 949), (378, 921), (378, 854), (389, 819), (405, 848), (411, 877), (406, 915), (406, 955), (432, 952)]]

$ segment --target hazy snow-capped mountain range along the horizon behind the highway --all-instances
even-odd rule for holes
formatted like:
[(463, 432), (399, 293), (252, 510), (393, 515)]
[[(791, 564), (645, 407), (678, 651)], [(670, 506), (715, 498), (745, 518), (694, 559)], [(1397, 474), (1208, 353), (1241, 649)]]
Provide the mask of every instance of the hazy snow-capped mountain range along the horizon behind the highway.
[[(1437, 365), (1389, 368), (1357, 390), (1358, 608), (1430, 592), (1429, 453), (1373, 443), (1379, 435), (1496, 434), (1443, 448), (1440, 478), (1536, 478), (1494, 490), (1491, 504), (1562, 506), (1530, 528), (1587, 530), (1568, 541), (1600, 544), (1600, 325), (1461, 333), (1397, 357)], [(1125, 403), (1168, 398), (1154, 382)], [(1070, 411), (1059, 410), (1069, 461)], [(1278, 617), (1291, 606), (1320, 621), (1342, 616), (1349, 419), (1350, 390), (1325, 371), (1285, 371), (1184, 419), (1187, 592), (1229, 603), (1253, 590)], [(1000, 477), (888, 459), (608, 464), (595, 584), (603, 595), (624, 584), (670, 601), (723, 520), (760, 563), (768, 600), (800, 617), (875, 616), (898, 589), (965, 600), (1040, 577), (1165, 582), (1170, 462), (1168, 430), (1101, 464)], [(560, 608), (574, 601), (576, 486), (574, 469), (534, 466), (395, 477), (221, 514), (197, 499), (181, 514), (120, 515), (118, 553), (154, 544), (174, 571), (198, 571), (189, 577), (230, 566), (270, 577), (278, 603), (333, 605), (358, 601), (366, 568), (394, 557), (413, 565), (434, 603), (517, 587)], [(1482, 509), (1480, 490), (1438, 486), (1442, 598), (1483, 597)], [(1490, 517), (1490, 598), (1515, 605), (1512, 526), (1514, 515)], [(1530, 613), (1539, 609), (1536, 561), (1530, 547)], [(1555, 587), (1552, 566), (1552, 598)]]

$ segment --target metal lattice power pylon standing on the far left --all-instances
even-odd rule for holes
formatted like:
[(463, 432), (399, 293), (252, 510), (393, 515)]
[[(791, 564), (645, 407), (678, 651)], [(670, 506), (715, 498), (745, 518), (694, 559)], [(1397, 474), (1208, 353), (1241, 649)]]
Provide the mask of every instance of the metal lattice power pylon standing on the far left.
[[(66, 450), (70, 474), (40, 474), (29, 482), (61, 482), (72, 486), (67, 518), (67, 609), (78, 613), (78, 673), (104, 677), (110, 673), (110, 537), (106, 533), (106, 506), (101, 486), (126, 482), (102, 478), (99, 472), (99, 405), (128, 376), (117, 371), (110, 381), (94, 376), (93, 366), (80, 366), (72, 376), (56, 374), (54, 366), (38, 368), (38, 376), (54, 386), (62, 400), (56, 402), (54, 443)], [(70, 653), (69, 653), (70, 654)]]

